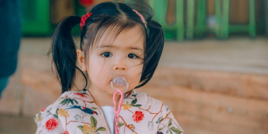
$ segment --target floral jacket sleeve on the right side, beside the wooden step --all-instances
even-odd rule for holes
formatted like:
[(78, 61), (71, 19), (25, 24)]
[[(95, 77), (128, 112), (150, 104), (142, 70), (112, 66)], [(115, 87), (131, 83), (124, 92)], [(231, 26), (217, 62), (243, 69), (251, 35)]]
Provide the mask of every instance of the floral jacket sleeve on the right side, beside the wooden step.
[(163, 104), (161, 111), (162, 117), (159, 122), (157, 134), (184, 134), (182, 128), (179, 126), (177, 120), (174, 118), (172, 112), (169, 110), (169, 107)]

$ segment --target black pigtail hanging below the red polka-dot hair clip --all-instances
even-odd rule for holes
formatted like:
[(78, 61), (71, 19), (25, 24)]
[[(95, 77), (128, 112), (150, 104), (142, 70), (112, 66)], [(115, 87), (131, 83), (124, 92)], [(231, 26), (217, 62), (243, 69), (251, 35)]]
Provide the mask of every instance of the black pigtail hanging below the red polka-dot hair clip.
[[(79, 69), (76, 66), (77, 47), (71, 36), (71, 30), (74, 25), (80, 23), (80, 19), (81, 17), (78, 16), (63, 19), (56, 27), (52, 37), (52, 57), (57, 69), (57, 79), (62, 86), (62, 93), (71, 90), (74, 85), (76, 68)], [(82, 72), (80, 69), (79, 71)]]

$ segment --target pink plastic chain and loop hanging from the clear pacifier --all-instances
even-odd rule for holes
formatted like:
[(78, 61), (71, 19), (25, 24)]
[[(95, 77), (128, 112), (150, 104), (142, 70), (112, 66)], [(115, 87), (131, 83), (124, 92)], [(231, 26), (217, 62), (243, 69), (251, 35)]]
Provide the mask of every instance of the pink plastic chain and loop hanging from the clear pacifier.
[[(115, 96), (116, 96), (117, 92), (119, 92), (121, 94), (121, 98), (120, 98), (119, 103), (118, 103), (118, 111), (116, 110), (116, 101), (115, 101)], [(116, 116), (114, 119), (116, 122), (116, 125), (115, 125), (116, 134), (119, 134), (118, 122), (119, 122), (119, 113), (121, 111), (122, 101), (123, 101), (123, 92), (121, 90), (117, 89), (113, 94), (114, 113), (116, 113)]]

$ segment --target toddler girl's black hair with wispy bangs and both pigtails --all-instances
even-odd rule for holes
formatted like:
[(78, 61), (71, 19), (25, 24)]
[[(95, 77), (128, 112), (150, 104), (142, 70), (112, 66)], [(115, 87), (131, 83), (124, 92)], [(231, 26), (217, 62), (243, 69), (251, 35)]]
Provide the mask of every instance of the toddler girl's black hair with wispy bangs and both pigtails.
[[(89, 51), (89, 46), (94, 44), (102, 36), (102, 33), (108, 30), (108, 27), (115, 27), (118, 35), (124, 29), (131, 29), (135, 26), (141, 27), (144, 35), (144, 58), (141, 80), (137, 87), (145, 85), (152, 78), (155, 69), (160, 60), (164, 35), (162, 26), (152, 20), (152, 8), (143, 3), (143, 14), (147, 27), (141, 21), (139, 16), (133, 11), (133, 8), (123, 3), (103, 2), (94, 6), (90, 13), (92, 15), (86, 20), (81, 31), (80, 49)], [(62, 85), (62, 93), (70, 91), (74, 85), (77, 70), (80, 71), (86, 80), (85, 74), (77, 67), (76, 45), (71, 35), (71, 30), (76, 24), (80, 24), (81, 17), (69, 16), (58, 24), (55, 29), (52, 41), (52, 57), (57, 70), (57, 78)], [(100, 33), (100, 34), (99, 34)]]

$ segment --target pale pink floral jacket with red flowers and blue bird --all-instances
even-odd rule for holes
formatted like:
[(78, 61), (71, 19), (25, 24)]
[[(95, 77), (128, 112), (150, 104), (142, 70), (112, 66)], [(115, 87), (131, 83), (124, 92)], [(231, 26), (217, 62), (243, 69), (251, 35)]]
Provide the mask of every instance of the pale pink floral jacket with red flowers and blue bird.
[[(34, 117), (36, 134), (110, 134), (104, 113), (88, 90), (67, 91)], [(119, 134), (184, 134), (169, 108), (136, 91), (124, 95)]]

